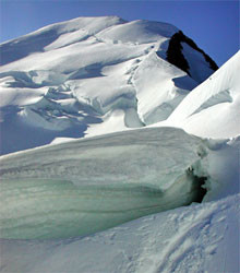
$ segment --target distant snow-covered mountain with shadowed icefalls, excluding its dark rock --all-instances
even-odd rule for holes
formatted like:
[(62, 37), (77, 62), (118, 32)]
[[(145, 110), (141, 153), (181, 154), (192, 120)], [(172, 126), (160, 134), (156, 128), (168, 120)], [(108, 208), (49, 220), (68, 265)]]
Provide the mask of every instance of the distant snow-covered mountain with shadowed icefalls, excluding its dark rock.
[[(168, 118), (200, 80), (166, 61), (178, 31), (142, 20), (80, 17), (2, 44), (1, 154)], [(208, 73), (208, 62), (194, 64), (192, 50), (184, 52), (195, 74)]]

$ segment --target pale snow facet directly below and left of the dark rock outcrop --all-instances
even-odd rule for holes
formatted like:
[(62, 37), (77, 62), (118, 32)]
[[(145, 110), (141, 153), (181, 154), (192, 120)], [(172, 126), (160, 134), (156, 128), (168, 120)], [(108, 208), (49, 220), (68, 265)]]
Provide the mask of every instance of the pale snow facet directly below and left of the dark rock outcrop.
[(132, 81), (137, 90), (137, 111), (145, 124), (165, 120), (196, 85), (183, 71), (155, 52), (142, 61)]

